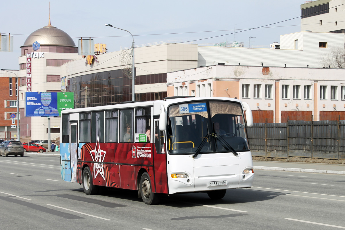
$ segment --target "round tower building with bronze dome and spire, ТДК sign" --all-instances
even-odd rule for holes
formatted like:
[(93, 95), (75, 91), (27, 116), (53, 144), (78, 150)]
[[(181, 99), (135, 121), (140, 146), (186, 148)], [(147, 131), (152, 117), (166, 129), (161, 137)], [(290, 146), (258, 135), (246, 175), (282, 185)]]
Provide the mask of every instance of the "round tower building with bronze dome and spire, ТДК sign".
[[(47, 117), (25, 117), (26, 92), (61, 92), (61, 66), (81, 58), (78, 47), (64, 31), (48, 26), (32, 32), (19, 57), (20, 136), (31, 140), (48, 139)], [(31, 62), (28, 57), (31, 57)], [(51, 140), (59, 138), (60, 117), (51, 117)], [(28, 128), (27, 128), (28, 127)]]

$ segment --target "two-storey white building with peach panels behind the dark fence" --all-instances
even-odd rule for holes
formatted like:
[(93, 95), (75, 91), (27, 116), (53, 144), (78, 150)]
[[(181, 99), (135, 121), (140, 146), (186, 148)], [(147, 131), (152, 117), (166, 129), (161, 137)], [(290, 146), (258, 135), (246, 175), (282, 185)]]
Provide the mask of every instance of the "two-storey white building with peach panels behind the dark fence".
[[(168, 96), (231, 97), (254, 122), (345, 119), (345, 69), (215, 65), (167, 74)], [(339, 117), (340, 116), (340, 117)]]

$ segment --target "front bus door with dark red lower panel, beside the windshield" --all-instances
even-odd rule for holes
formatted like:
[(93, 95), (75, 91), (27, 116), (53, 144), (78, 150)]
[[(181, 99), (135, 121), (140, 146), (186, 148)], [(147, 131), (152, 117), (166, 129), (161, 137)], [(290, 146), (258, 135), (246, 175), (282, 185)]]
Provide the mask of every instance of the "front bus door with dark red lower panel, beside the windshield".
[(159, 130), (159, 119), (158, 116), (154, 117), (154, 130), (151, 132), (154, 136), (154, 168), (155, 168), (155, 187), (156, 192), (168, 193), (168, 182), (167, 182), (167, 163), (166, 163), (166, 144), (164, 131)]

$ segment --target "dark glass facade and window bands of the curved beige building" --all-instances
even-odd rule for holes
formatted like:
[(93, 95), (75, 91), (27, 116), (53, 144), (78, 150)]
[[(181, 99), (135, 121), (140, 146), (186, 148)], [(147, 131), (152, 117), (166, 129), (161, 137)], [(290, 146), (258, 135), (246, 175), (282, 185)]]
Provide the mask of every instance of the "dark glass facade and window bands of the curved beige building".
[[(149, 79), (149, 80), (148, 80)], [(132, 100), (132, 81), (122, 70), (91, 73), (68, 79), (67, 92), (74, 92), (74, 108), (85, 107), (85, 87), (87, 106), (106, 106)], [(138, 84), (166, 82), (166, 73), (149, 74), (136, 77)], [(144, 83), (145, 82), (145, 83)], [(162, 83), (163, 83), (162, 82)], [(167, 92), (137, 93), (136, 100), (161, 100)]]

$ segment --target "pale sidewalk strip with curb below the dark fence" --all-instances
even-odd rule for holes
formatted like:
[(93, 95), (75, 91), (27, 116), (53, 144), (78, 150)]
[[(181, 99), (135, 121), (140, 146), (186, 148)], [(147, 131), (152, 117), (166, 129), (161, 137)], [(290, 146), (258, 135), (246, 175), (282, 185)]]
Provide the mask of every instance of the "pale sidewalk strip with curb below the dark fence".
[(345, 164), (319, 164), (281, 161), (253, 161), (253, 169), (290, 171), (290, 172), (314, 172), (345, 175)]

